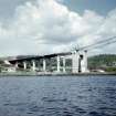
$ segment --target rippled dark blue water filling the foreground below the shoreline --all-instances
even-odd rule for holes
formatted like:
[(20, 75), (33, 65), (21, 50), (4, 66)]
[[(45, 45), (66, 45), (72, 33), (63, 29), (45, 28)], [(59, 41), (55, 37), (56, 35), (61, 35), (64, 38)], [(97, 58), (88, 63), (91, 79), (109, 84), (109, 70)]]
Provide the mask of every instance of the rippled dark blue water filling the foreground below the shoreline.
[(0, 77), (0, 116), (116, 116), (116, 76)]

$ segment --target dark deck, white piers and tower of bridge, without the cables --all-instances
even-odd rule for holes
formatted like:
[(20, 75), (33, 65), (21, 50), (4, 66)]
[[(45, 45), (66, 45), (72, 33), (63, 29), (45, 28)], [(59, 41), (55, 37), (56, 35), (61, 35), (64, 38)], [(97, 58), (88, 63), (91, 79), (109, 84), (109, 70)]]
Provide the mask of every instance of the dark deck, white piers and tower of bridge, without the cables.
[(9, 60), (15, 71), (80, 73), (87, 71), (86, 52), (57, 53), (43, 56), (18, 56)]

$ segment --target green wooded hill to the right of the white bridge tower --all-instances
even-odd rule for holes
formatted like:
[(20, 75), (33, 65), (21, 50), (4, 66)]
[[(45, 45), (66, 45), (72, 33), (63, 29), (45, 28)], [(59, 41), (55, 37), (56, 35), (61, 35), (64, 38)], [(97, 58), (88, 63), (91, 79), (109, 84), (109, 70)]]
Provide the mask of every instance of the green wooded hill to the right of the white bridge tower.
[(116, 71), (116, 55), (115, 54), (99, 54), (88, 57), (88, 68), (97, 70), (104, 68), (106, 71)]

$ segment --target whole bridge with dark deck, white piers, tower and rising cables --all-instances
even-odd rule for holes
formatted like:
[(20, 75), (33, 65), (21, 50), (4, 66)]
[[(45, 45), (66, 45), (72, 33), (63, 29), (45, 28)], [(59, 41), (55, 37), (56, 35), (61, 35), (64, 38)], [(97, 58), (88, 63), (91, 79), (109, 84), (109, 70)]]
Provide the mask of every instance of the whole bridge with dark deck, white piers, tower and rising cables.
[[(106, 46), (116, 42), (116, 36), (98, 41), (73, 52), (61, 52), (48, 55), (25, 55), (8, 57), (7, 63), (11, 64), (15, 70), (31, 72), (55, 72), (55, 73), (86, 73), (87, 70), (87, 50)], [(70, 65), (66, 65), (70, 64)]]

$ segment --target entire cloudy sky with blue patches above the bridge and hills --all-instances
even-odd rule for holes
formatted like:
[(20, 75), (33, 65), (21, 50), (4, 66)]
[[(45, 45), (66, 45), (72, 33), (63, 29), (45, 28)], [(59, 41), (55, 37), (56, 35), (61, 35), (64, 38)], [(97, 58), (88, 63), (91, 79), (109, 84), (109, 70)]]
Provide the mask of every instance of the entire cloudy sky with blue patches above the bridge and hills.
[(0, 56), (73, 51), (115, 35), (116, 0), (0, 0)]

